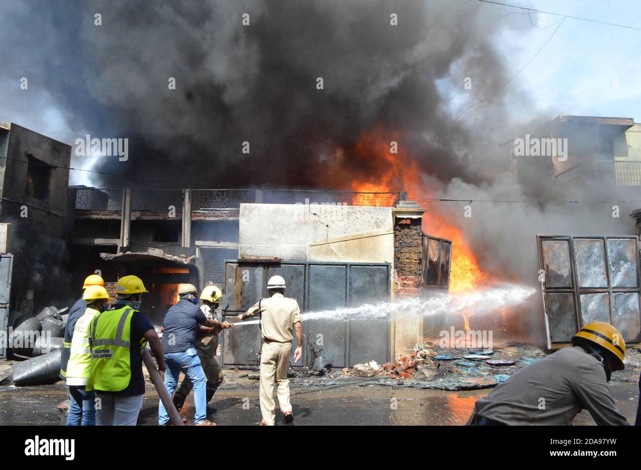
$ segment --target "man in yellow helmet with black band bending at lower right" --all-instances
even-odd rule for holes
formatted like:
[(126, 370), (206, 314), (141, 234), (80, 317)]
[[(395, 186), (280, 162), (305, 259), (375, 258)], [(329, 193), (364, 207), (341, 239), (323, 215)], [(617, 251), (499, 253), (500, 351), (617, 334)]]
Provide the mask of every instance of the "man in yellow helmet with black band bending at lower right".
[(467, 422), (473, 426), (570, 425), (587, 409), (597, 425), (628, 425), (608, 382), (624, 368), (626, 343), (617, 328), (593, 321), (563, 348), (529, 364), (479, 398)]

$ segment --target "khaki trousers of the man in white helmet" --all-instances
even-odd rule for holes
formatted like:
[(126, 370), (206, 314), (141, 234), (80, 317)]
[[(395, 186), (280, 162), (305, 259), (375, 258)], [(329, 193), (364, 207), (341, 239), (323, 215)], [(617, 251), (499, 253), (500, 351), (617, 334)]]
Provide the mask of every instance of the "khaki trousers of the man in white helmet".
[(274, 426), (276, 403), (274, 403), (274, 382), (278, 384), (278, 404), (283, 413), (292, 410), (289, 403), (289, 380), (287, 368), (292, 343), (265, 341), (260, 352), (260, 412), (265, 426)]

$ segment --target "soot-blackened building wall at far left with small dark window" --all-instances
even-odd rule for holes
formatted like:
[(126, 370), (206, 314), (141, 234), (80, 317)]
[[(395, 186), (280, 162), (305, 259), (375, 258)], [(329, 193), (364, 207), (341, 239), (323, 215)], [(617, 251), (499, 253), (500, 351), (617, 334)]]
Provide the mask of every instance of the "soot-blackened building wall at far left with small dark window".
[[(60, 300), (68, 288), (63, 241), (71, 146), (13, 123), (0, 126), (0, 222), (12, 223), (12, 307), (30, 312)], [(43, 197), (26, 192), (29, 156), (46, 168)], [(46, 189), (46, 191), (45, 191)]]

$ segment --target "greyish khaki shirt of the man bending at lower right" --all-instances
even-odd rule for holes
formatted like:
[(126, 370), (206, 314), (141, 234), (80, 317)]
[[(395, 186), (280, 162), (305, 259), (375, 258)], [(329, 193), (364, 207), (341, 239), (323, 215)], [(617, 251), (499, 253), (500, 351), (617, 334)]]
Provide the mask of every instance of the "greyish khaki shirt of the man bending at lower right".
[(628, 425), (597, 358), (579, 346), (529, 364), (474, 405), (475, 414), (505, 425), (569, 425), (587, 409), (597, 425)]

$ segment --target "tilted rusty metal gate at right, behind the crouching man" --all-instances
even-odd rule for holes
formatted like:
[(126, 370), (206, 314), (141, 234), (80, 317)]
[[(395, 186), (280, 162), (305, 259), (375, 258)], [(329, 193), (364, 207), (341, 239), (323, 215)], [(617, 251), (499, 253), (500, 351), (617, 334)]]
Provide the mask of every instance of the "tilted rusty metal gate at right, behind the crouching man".
[(547, 346), (569, 343), (590, 321), (640, 340), (639, 251), (634, 236), (537, 235)]

